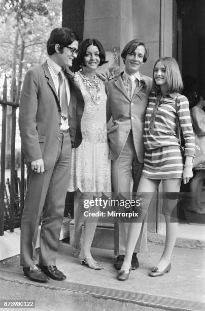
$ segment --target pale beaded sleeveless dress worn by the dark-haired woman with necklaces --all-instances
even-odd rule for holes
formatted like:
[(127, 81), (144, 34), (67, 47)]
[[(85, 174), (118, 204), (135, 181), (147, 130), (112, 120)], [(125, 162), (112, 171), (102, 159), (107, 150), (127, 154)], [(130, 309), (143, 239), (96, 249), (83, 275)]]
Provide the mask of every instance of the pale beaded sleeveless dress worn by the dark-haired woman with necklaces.
[[(100, 83), (100, 102), (96, 105), (85, 88), (82, 78), (77, 73), (85, 108), (81, 120), (82, 143), (72, 150), (71, 175), (67, 191), (80, 190), (87, 195), (110, 197), (111, 194), (111, 161), (107, 139), (105, 84)], [(92, 89), (96, 96), (96, 89)]]

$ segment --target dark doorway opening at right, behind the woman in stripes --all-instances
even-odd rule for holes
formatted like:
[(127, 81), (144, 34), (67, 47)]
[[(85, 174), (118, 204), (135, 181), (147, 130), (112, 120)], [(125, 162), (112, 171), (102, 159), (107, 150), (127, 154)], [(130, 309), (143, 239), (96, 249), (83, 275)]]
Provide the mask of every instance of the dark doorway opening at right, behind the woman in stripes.
[[(183, 94), (190, 109), (196, 104), (196, 94), (205, 89), (205, 2), (203, 0), (173, 1), (173, 56), (177, 59), (184, 82)], [(201, 146), (202, 147), (202, 146)], [(204, 170), (205, 171), (205, 170)], [(180, 203), (182, 222), (205, 223), (205, 180), (199, 209), (190, 206), (190, 183), (182, 182), (185, 200)], [(196, 212), (198, 210), (198, 212)]]

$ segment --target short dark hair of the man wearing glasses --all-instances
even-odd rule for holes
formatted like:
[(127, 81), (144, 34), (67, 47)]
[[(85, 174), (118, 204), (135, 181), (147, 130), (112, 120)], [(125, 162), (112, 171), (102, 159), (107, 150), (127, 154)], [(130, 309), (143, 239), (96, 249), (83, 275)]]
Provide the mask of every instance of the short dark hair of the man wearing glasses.
[(61, 51), (64, 46), (70, 45), (76, 40), (78, 40), (78, 36), (71, 29), (66, 27), (54, 28), (46, 44), (48, 55), (55, 53), (56, 44), (60, 45)]

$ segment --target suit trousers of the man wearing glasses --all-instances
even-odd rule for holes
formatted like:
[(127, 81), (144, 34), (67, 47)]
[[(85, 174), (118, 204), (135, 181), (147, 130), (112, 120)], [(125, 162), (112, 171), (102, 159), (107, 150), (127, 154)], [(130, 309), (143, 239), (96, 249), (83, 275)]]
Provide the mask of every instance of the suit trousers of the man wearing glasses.
[(40, 233), (40, 265), (55, 265), (65, 207), (66, 186), (71, 167), (71, 139), (67, 132), (59, 136), (55, 165), (43, 174), (27, 164), (27, 192), (21, 220), (21, 266), (37, 264), (35, 250)]

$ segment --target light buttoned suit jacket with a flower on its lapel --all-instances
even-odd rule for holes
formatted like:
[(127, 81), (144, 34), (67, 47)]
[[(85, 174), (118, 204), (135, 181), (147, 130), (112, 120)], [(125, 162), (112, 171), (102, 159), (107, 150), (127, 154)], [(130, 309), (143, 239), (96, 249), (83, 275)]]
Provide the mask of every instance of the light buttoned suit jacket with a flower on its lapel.
[(122, 82), (122, 74), (123, 72), (119, 77), (108, 82), (107, 119), (109, 120), (111, 115), (113, 117), (113, 125), (108, 131), (109, 158), (112, 160), (119, 158), (132, 128), (135, 151), (139, 162), (143, 163), (143, 129), (152, 79), (140, 73), (139, 86), (135, 88), (130, 99)]

